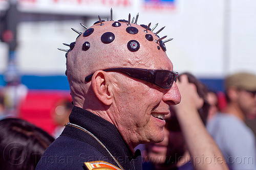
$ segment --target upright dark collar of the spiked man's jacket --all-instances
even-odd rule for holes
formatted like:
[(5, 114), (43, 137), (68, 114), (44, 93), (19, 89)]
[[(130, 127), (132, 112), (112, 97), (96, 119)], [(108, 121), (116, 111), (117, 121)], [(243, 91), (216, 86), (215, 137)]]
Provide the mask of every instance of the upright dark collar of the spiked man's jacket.
[[(142, 159), (140, 151), (136, 151), (133, 156), (132, 151), (124, 142), (117, 128), (107, 120), (98, 115), (84, 110), (80, 107), (74, 106), (69, 116), (70, 123), (81, 126), (95, 135), (110, 151), (110, 153), (118, 159), (118, 162), (123, 166), (132, 165), (134, 169), (140, 169), (137, 166), (142, 166)], [(115, 146), (115, 147), (113, 147)], [(127, 162), (126, 156), (129, 162)], [(129, 165), (127, 164), (129, 163)], [(123, 167), (124, 169), (130, 169)]]

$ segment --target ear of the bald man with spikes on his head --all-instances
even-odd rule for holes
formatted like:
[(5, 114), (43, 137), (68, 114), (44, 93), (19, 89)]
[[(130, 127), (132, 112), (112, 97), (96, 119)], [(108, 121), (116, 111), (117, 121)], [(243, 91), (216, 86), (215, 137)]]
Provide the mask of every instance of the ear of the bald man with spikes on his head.
[(102, 70), (96, 71), (92, 77), (92, 88), (95, 95), (102, 103), (108, 106), (113, 102), (109, 78), (108, 74)]

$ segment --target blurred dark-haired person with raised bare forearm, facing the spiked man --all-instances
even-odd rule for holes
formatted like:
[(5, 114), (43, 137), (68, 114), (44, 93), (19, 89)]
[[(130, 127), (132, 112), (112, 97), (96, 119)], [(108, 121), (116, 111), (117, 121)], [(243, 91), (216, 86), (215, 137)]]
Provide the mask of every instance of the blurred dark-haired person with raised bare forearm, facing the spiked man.
[(145, 144), (143, 169), (228, 169), (205, 128), (209, 110), (206, 86), (189, 73), (180, 75), (177, 85), (181, 103), (170, 106), (164, 140)]

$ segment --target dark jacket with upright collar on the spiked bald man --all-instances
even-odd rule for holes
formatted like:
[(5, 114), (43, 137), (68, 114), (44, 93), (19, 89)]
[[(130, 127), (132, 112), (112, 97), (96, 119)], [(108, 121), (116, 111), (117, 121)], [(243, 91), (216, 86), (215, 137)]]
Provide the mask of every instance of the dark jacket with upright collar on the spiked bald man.
[[(71, 125), (78, 125), (96, 136), (123, 169), (142, 169), (140, 151), (137, 150), (133, 156), (113, 124), (76, 106), (72, 109), (69, 119)], [(42, 155), (36, 170), (87, 169), (84, 162), (99, 160), (120, 167), (100, 142), (82, 129), (66, 126)]]

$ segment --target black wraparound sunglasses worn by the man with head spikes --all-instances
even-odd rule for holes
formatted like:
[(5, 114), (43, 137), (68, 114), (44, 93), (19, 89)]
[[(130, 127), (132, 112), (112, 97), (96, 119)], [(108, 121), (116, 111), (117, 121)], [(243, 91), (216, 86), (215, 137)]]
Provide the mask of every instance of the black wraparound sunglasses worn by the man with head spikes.
[[(161, 88), (169, 89), (172, 87), (174, 81), (177, 81), (178, 72), (162, 69), (143, 69), (143, 68), (110, 68), (103, 71), (120, 72), (132, 78), (144, 80), (155, 84)], [(86, 82), (92, 80), (93, 74), (86, 77)]]

